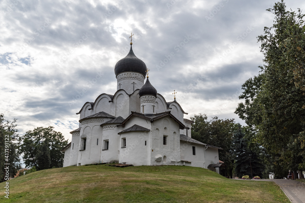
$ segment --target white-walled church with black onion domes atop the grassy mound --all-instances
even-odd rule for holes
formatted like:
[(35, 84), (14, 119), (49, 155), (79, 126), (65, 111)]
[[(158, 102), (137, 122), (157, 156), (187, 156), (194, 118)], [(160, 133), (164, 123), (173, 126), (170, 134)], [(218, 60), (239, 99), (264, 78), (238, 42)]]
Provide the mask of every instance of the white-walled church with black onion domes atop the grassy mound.
[(129, 53), (114, 68), (117, 92), (102, 93), (77, 113), (79, 128), (70, 132), (72, 141), (62, 149), (63, 166), (185, 165), (219, 173), (221, 148), (192, 139), (193, 121), (184, 118), (187, 113), (175, 98), (167, 102), (157, 93), (130, 44)]

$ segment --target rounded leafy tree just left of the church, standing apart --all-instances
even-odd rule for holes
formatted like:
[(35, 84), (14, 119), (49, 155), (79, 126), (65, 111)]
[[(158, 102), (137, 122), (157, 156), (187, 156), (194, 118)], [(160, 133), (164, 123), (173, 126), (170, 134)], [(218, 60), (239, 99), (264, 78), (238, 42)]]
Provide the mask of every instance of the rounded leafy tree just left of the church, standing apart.
[(20, 150), (26, 167), (35, 166), (37, 170), (63, 166), (63, 154), (60, 152), (68, 144), (54, 127), (38, 127), (27, 131), (20, 137)]

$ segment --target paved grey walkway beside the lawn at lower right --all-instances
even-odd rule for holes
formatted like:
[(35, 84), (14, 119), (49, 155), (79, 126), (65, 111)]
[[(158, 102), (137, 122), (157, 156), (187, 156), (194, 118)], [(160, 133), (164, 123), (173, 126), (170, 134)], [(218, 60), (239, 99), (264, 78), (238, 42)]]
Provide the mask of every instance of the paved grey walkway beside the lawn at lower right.
[[(242, 179), (234, 179), (242, 180)], [(292, 203), (305, 203), (305, 184), (297, 180), (287, 179), (251, 179), (255, 181), (273, 181), (281, 187), (282, 191)]]

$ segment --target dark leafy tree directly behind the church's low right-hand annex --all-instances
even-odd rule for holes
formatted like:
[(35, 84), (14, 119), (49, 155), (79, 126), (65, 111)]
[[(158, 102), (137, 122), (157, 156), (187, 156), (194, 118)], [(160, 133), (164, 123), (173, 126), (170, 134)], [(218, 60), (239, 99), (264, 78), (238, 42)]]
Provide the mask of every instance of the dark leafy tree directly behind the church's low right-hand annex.
[(227, 173), (232, 178), (234, 167), (234, 152), (233, 152), (233, 132), (235, 130), (234, 119), (218, 119), (212, 117), (207, 121), (206, 114), (198, 114), (191, 117), (194, 121), (192, 124), (192, 138), (208, 145), (221, 147), (219, 150), (219, 160), (227, 165)]

